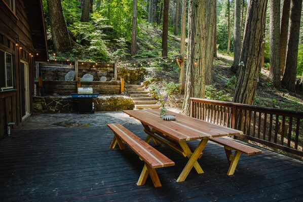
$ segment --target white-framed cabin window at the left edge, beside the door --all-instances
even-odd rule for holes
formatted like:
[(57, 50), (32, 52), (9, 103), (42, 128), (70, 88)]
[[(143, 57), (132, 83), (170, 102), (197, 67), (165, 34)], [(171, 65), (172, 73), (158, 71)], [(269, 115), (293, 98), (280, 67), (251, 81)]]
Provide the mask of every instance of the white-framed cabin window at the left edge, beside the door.
[(14, 88), (13, 55), (0, 50), (0, 84), (1, 90)]

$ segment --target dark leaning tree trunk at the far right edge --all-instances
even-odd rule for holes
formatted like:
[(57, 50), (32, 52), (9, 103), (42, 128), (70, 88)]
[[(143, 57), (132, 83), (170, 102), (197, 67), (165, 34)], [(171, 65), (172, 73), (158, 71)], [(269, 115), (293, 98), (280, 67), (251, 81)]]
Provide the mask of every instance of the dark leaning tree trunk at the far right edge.
[(286, 63), (282, 79), (282, 85), (289, 91), (295, 91), (301, 9), (302, 0), (291, 0)]

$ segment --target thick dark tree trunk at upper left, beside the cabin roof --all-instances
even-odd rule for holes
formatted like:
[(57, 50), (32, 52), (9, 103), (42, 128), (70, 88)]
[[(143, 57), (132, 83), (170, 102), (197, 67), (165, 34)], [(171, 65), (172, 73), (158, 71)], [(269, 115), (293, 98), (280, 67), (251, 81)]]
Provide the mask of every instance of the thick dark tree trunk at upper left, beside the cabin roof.
[(53, 43), (56, 51), (71, 49), (68, 30), (63, 17), (60, 0), (47, 1)]

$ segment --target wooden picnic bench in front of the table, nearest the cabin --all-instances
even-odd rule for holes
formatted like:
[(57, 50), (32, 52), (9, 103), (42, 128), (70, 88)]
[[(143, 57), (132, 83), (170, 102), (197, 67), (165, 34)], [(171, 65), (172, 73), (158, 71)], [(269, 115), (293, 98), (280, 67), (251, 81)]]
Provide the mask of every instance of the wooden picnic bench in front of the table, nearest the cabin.
[(145, 184), (145, 181), (149, 175), (155, 187), (162, 186), (156, 169), (174, 166), (174, 161), (144, 142), (144, 140), (140, 139), (121, 124), (107, 124), (107, 126), (115, 134), (109, 146), (110, 149), (115, 148), (117, 143), (120, 149), (125, 149), (123, 144), (123, 142), (125, 142), (134, 152), (139, 155), (140, 159), (144, 161), (144, 167), (138, 179), (137, 185)]

